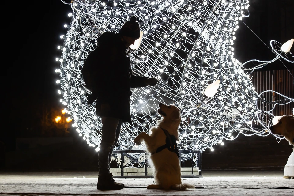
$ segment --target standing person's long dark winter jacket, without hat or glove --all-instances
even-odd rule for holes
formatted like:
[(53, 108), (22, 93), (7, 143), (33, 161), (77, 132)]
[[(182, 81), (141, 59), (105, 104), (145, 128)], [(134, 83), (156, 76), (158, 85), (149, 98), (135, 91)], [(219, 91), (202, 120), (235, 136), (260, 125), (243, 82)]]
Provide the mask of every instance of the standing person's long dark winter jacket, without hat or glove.
[[(126, 46), (113, 32), (103, 33), (97, 40), (103, 59), (99, 59), (96, 72), (96, 115), (123, 119), (131, 123), (131, 88), (144, 87), (147, 77), (134, 76)], [(95, 50), (93, 51), (95, 52)]]

